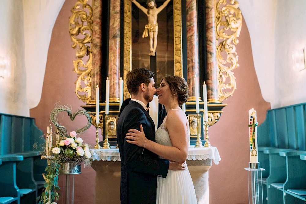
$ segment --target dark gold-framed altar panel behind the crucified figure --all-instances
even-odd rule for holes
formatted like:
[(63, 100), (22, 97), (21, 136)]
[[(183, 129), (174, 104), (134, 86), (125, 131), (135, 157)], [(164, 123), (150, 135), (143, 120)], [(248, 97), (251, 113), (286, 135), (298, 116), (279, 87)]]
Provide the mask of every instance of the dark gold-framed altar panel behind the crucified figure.
[[(137, 0), (137, 2), (147, 9), (147, 0)], [(155, 0), (155, 2), (156, 7), (159, 8), (166, 0)], [(157, 14), (157, 46), (154, 54), (151, 52), (150, 36), (143, 38), (144, 31), (150, 25), (147, 14), (138, 8), (139, 5), (130, 0), (124, 0), (124, 36), (121, 38), (124, 41), (124, 100), (130, 98), (125, 76), (133, 68), (143, 67), (153, 71), (156, 86), (159, 86), (161, 78), (166, 75), (183, 77), (181, 0), (167, 2), (167, 5)], [(153, 42), (154, 40), (155, 38)]]

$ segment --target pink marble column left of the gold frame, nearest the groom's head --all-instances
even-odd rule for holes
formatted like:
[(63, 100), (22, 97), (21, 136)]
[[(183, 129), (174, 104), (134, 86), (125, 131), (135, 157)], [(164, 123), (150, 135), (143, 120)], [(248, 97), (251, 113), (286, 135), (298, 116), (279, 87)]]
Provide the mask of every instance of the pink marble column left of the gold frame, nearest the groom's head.
[(120, 78), (120, 1), (110, 0), (110, 30), (108, 52), (108, 77), (110, 101), (119, 101)]

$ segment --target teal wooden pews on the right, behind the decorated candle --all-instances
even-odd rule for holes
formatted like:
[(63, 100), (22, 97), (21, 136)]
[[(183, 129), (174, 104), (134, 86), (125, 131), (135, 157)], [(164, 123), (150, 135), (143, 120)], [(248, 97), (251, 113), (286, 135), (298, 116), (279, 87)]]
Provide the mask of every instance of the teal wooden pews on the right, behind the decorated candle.
[(306, 183), (306, 177), (295, 179), (295, 173), (300, 171), (297, 166), (304, 168), (299, 154), (306, 151), (305, 106), (302, 103), (268, 110), (265, 121), (257, 128), (258, 160), (260, 167), (266, 169), (261, 180), (263, 197), (265, 188), (267, 193), (264, 203), (301, 202), (302, 197), (297, 200), (290, 191), (301, 188), (300, 182)]

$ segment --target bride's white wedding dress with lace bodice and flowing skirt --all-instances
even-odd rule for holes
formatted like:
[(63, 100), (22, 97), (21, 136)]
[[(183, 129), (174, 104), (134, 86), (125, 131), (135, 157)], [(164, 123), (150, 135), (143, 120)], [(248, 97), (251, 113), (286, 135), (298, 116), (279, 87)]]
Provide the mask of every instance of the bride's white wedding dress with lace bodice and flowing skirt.
[[(176, 109), (177, 110), (177, 109)], [(156, 130), (155, 141), (172, 146), (168, 131), (165, 129), (166, 118)], [(189, 131), (189, 130), (188, 130)], [(159, 157), (162, 158), (162, 157)], [(157, 204), (195, 204), (196, 193), (186, 165), (183, 171), (168, 170), (166, 178), (157, 177)]]

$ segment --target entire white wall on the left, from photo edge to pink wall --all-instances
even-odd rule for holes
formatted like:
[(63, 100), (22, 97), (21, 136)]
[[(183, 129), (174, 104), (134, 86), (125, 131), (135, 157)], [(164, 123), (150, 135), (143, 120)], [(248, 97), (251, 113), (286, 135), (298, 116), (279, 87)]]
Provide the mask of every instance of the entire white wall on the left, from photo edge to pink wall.
[(11, 60), (11, 76), (0, 77), (1, 113), (29, 116), (39, 103), (51, 33), (64, 2), (0, 0), (0, 56)]

